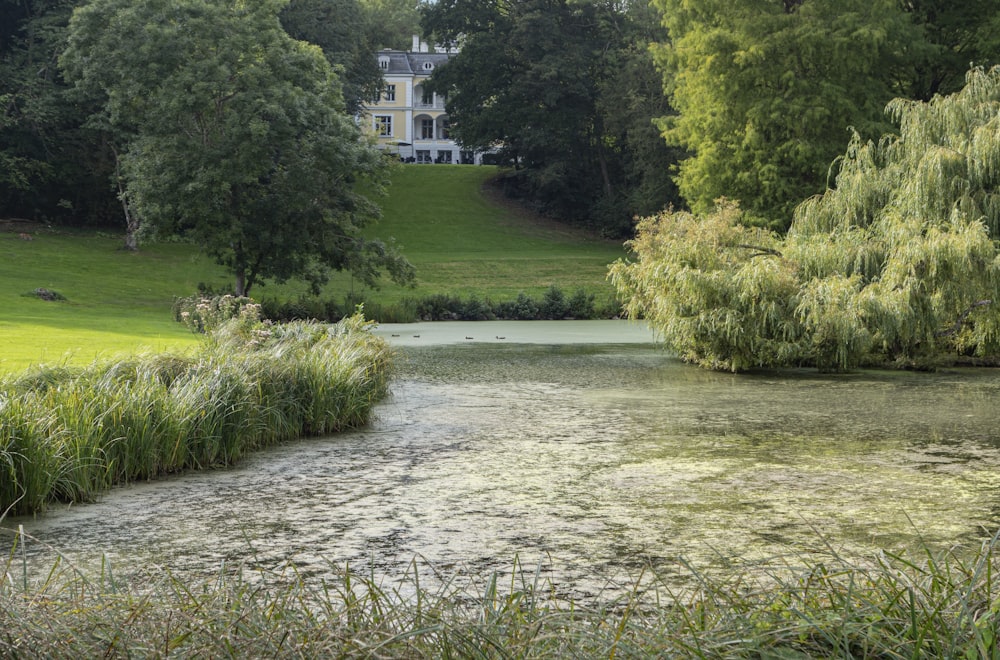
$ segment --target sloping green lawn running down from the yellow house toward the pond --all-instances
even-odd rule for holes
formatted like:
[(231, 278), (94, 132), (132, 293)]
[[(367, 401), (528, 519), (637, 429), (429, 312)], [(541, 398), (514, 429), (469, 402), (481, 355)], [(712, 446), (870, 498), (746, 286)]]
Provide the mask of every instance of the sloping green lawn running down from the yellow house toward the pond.
[(605, 277), (608, 264), (624, 255), (621, 243), (498, 203), (483, 191), (495, 174), (495, 168), (483, 166), (401, 166), (381, 200), (383, 218), (372, 233), (396, 239), (417, 267), (417, 287), (386, 282), (371, 292), (340, 275), (327, 294), (353, 291), (382, 303), (434, 293), (500, 300), (522, 291), (540, 294), (555, 284), (567, 294), (583, 287), (613, 295)]

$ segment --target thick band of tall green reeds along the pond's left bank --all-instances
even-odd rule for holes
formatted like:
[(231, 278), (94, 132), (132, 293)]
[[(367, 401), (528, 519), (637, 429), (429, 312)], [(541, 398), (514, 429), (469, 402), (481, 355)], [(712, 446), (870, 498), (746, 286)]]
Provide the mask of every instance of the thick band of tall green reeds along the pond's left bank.
[(368, 422), (391, 354), (360, 312), (333, 325), (259, 315), (253, 304), (223, 310), (194, 355), (0, 380), (0, 519)]

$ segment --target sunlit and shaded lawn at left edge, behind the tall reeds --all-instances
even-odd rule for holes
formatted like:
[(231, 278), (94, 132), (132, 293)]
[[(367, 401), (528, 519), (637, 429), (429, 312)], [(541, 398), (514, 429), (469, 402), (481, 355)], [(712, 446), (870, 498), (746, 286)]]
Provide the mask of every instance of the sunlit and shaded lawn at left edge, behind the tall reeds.
[[(146, 350), (180, 350), (197, 339), (170, 315), (217, 269), (190, 246), (146, 246), (95, 234), (33, 232), (26, 241), (0, 232), (0, 370), (38, 362), (87, 363)], [(26, 296), (46, 288), (66, 298)]]

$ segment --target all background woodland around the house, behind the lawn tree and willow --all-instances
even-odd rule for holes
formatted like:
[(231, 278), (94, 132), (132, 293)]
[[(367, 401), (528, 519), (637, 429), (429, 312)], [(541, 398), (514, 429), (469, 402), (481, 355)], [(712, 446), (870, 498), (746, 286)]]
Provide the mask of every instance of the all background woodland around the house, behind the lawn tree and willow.
[[(0, 215), (124, 226), (120, 140), (60, 68), (86, 4), (0, 0)], [(509, 194), (615, 237), (719, 197), (784, 230), (852, 130), (878, 139), (892, 99), (1000, 62), (994, 0), (293, 0), (281, 20), (323, 49), (348, 114), (378, 91), (376, 50), (460, 44), (434, 76), (453, 135), (498, 151)]]

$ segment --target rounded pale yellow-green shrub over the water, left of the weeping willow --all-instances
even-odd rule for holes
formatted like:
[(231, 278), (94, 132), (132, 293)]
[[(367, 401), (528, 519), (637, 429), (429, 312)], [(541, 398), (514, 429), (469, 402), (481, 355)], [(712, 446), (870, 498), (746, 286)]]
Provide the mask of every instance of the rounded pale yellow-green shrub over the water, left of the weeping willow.
[(705, 217), (643, 219), (629, 243), (638, 261), (613, 264), (612, 282), (626, 313), (685, 360), (732, 371), (792, 364), (802, 341), (794, 269), (776, 258), (777, 236), (739, 218), (726, 202)]

